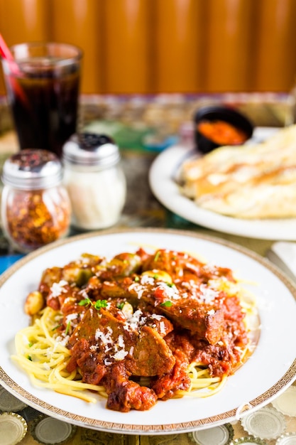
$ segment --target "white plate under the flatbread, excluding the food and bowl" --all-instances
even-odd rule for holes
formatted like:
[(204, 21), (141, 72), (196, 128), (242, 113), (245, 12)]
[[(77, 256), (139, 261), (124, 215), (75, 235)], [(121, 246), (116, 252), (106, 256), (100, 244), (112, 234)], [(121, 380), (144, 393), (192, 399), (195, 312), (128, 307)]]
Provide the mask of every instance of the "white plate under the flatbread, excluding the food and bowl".
[[(258, 127), (249, 143), (262, 141), (277, 131)], [(149, 171), (150, 188), (166, 208), (187, 219), (219, 232), (231, 233), (261, 240), (296, 240), (296, 218), (274, 220), (243, 220), (219, 215), (200, 208), (180, 192), (175, 181), (178, 168), (185, 159), (194, 156), (192, 147), (175, 145), (166, 149), (153, 162)]]

